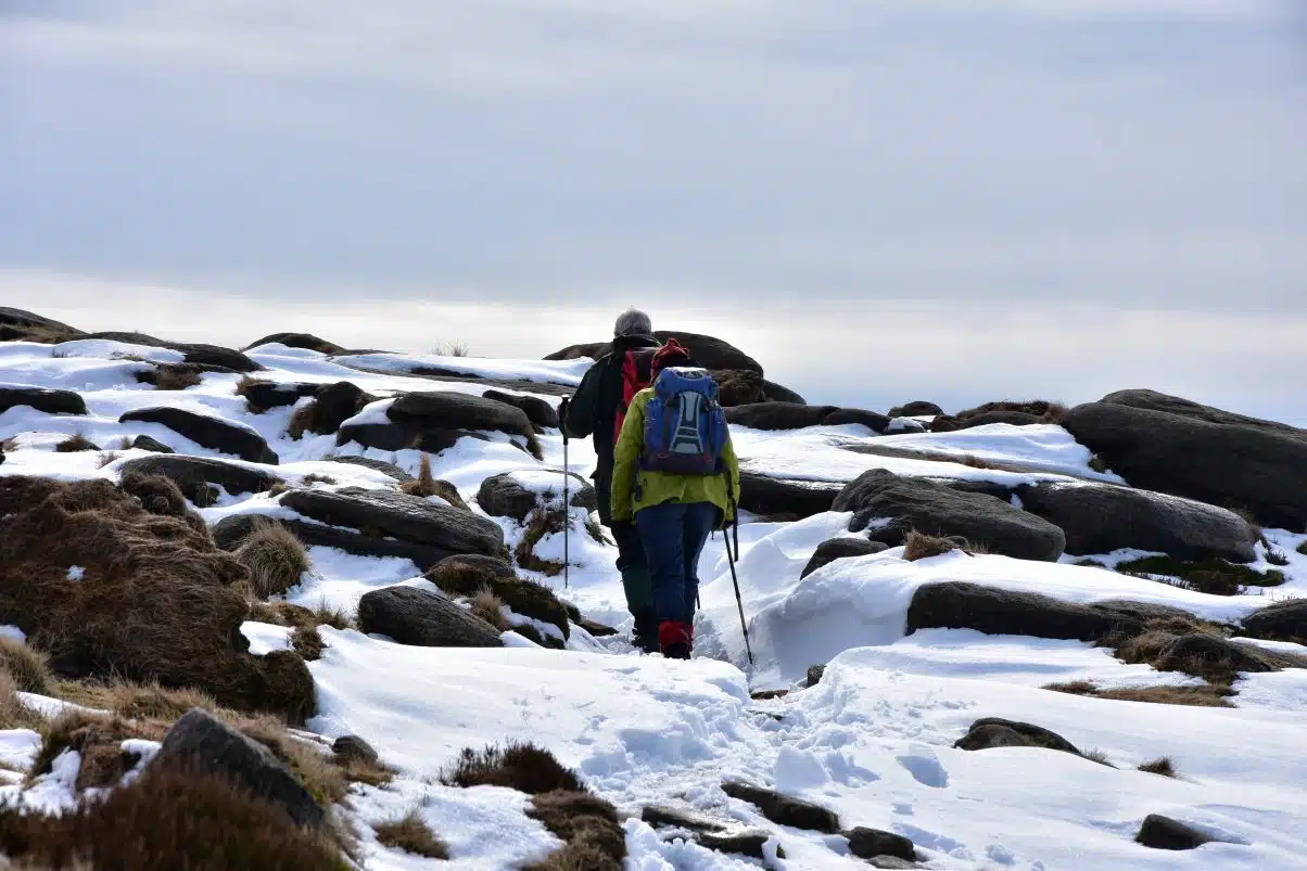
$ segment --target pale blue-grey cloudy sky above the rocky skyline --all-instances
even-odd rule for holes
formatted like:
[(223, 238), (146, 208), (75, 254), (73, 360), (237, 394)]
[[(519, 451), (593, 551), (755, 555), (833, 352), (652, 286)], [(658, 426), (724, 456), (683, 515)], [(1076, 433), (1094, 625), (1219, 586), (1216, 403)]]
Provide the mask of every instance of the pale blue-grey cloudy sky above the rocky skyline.
[(1307, 4), (0, 0), (0, 304), (1307, 426)]

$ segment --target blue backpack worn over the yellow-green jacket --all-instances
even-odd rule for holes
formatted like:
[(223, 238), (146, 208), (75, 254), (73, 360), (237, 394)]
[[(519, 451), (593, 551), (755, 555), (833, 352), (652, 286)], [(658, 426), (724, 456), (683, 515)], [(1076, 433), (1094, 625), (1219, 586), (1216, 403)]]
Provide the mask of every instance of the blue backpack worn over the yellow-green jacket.
[(644, 409), (640, 469), (676, 475), (719, 475), (729, 431), (718, 383), (704, 370), (665, 368)]

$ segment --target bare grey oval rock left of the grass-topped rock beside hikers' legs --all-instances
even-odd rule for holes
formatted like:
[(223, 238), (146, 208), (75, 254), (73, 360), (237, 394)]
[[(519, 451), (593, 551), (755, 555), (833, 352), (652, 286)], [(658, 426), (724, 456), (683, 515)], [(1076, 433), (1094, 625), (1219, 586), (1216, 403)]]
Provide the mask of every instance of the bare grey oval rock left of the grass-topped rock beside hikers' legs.
[(448, 597), (414, 586), (387, 586), (358, 602), (363, 632), (421, 648), (499, 648), (499, 631)]

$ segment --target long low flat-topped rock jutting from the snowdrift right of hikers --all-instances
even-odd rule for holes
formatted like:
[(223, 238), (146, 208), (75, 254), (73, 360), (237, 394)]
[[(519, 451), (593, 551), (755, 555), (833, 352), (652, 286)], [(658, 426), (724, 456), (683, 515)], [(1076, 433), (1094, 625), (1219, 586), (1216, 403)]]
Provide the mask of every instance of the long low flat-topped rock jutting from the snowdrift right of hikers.
[(920, 586), (912, 594), (907, 632), (976, 629), (985, 635), (1097, 641), (1114, 631), (1137, 635), (1144, 629), (1154, 612), (1132, 611), (1131, 605), (1077, 605), (1038, 593), (944, 581)]

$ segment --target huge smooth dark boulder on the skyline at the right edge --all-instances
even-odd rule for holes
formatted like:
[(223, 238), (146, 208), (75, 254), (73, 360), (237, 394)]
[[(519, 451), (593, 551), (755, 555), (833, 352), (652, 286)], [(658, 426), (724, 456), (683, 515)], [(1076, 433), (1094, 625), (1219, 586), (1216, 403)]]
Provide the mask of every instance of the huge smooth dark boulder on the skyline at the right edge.
[(1268, 526), (1307, 525), (1307, 432), (1188, 405), (1090, 402), (1061, 426), (1136, 487), (1247, 509)]

